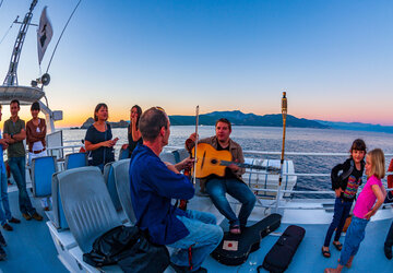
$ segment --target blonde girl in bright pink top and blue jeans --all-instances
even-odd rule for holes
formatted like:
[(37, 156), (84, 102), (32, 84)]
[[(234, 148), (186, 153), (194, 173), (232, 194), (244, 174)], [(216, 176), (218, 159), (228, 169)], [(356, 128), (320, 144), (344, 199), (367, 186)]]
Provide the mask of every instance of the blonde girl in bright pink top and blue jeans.
[[(336, 269), (325, 269), (327, 272), (341, 272), (344, 265), (350, 268), (355, 254), (359, 250), (360, 242), (365, 239), (365, 230), (370, 217), (382, 205), (386, 195), (381, 179), (385, 175), (384, 155), (382, 150), (374, 149), (366, 157), (367, 182), (355, 204), (354, 217), (349, 225), (344, 249)], [(377, 200), (377, 203), (376, 203)]]

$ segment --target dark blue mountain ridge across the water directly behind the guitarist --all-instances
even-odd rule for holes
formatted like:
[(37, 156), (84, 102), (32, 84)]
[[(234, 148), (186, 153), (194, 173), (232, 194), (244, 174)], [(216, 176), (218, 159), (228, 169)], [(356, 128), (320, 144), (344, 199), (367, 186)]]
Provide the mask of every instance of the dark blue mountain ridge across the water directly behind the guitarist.
[[(261, 127), (282, 127), (283, 116), (281, 114), (258, 116), (255, 114), (243, 114), (239, 110), (235, 111), (213, 111), (200, 115), (199, 122), (203, 126), (214, 126), (219, 118), (227, 118), (234, 126), (261, 126)], [(195, 123), (193, 116), (169, 116), (172, 126), (191, 126)], [(299, 119), (287, 115), (287, 127), (299, 128), (330, 128), (314, 120)]]

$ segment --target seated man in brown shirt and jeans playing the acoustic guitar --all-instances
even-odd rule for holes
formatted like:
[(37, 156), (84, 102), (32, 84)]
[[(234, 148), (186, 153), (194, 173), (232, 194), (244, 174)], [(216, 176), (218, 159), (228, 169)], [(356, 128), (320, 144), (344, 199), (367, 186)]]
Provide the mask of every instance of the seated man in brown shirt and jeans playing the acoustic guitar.
[[(229, 120), (222, 118), (216, 121), (216, 135), (202, 139), (199, 143), (207, 143), (215, 150), (227, 150), (230, 152), (234, 162), (245, 163), (241, 146), (233, 141), (229, 135), (231, 133), (231, 124)], [(195, 134), (191, 134), (186, 141), (187, 149), (191, 149), (195, 142)], [(241, 228), (247, 225), (252, 209), (255, 205), (257, 198), (250, 188), (242, 181), (241, 175), (245, 174), (243, 168), (231, 164), (225, 169), (224, 177), (211, 175), (205, 179), (201, 179), (201, 189), (204, 189), (217, 210), (229, 221), (229, 232), (240, 234)], [(237, 217), (225, 194), (228, 193), (241, 203), (239, 216)]]

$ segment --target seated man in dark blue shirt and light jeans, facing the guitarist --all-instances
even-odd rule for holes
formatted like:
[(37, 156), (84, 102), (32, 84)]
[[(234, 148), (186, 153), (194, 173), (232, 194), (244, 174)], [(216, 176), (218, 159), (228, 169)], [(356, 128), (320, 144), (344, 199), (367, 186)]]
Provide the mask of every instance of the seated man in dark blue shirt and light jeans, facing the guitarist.
[(171, 199), (189, 200), (194, 195), (192, 182), (179, 174), (193, 161), (187, 158), (171, 165), (159, 159), (170, 134), (169, 118), (162, 108), (153, 107), (143, 112), (139, 129), (143, 145), (136, 146), (130, 162), (131, 200), (136, 225), (142, 230), (148, 229), (153, 242), (178, 249), (170, 258), (176, 272), (206, 272), (201, 264), (221, 242), (222, 228), (210, 213), (184, 212), (171, 204)]

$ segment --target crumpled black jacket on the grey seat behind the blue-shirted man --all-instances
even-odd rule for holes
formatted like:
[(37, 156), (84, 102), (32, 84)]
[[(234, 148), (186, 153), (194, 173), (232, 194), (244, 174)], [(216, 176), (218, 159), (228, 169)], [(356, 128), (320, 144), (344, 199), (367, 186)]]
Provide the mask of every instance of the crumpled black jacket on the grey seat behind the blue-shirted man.
[(169, 265), (165, 246), (152, 244), (136, 226), (118, 226), (93, 242), (83, 261), (100, 268), (118, 264), (124, 272), (164, 272)]

